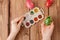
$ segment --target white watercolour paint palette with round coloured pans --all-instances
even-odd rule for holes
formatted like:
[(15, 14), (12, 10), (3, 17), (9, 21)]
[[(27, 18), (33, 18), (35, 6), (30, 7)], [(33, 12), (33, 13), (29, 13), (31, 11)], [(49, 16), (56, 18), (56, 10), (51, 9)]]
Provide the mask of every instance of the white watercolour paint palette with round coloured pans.
[(31, 27), (35, 23), (37, 23), (39, 20), (42, 20), (44, 18), (44, 12), (42, 9), (39, 9), (38, 7), (33, 8), (29, 12), (25, 14), (23, 25), (26, 28)]

